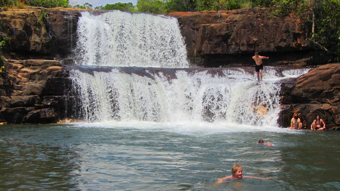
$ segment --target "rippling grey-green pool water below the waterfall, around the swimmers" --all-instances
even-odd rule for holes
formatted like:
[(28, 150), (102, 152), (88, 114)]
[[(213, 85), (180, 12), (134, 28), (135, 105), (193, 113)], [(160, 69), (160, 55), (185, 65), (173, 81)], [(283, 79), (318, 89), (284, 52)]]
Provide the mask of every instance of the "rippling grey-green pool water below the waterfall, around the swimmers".
[[(0, 190), (339, 190), (339, 146), (337, 131), (277, 127), (4, 125)], [(272, 179), (217, 185), (235, 163)]]

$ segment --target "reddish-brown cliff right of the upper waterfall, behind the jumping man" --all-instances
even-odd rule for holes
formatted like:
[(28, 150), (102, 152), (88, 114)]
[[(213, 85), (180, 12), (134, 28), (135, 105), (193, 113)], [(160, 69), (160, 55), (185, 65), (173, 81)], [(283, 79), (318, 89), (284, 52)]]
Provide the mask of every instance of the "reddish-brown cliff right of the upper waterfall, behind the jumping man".
[[(171, 12), (168, 15), (179, 20), (188, 57), (203, 66), (249, 65), (253, 63), (250, 55), (254, 52), (264, 52), (271, 57), (272, 53), (311, 49), (306, 39), (309, 31), (303, 23), (290, 17), (271, 17), (270, 11), (271, 8), (256, 7), (232, 11)], [(305, 56), (289, 54), (292, 60)], [(284, 55), (276, 54), (269, 63), (287, 60), (287, 55), (286, 59), (280, 59)]]

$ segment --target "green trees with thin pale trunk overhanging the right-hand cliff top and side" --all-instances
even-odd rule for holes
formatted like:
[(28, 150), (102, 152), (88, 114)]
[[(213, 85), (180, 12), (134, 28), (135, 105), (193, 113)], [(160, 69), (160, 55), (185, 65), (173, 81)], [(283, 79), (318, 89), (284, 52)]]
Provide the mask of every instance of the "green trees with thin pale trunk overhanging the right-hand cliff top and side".
[[(275, 0), (274, 14), (290, 15), (310, 23), (310, 41), (320, 49), (340, 57), (339, 0)], [(314, 27), (313, 27), (314, 26)]]

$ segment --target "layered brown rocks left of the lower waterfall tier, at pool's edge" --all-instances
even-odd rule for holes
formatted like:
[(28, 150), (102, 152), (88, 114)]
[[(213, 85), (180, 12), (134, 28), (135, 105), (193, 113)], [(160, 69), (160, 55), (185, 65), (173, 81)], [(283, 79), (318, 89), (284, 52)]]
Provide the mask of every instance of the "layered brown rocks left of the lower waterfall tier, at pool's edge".
[(53, 60), (6, 60), (0, 81), (0, 122), (56, 123), (63, 116), (63, 68)]

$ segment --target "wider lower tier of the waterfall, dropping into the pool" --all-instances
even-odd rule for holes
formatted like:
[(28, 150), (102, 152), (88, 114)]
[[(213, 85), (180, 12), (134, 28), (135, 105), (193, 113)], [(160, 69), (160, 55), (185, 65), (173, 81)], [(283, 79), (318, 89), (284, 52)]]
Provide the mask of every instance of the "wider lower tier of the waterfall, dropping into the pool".
[(73, 67), (70, 77), (73, 91), (80, 95), (80, 110), (70, 117), (87, 122), (276, 126), (278, 81), (307, 71), (266, 67), (259, 85), (252, 67)]

